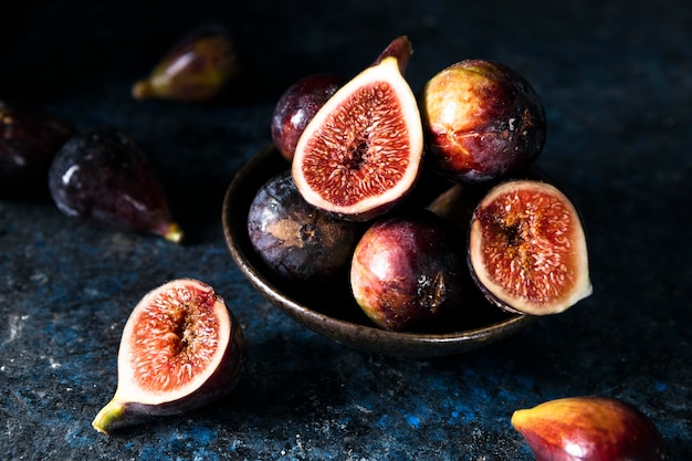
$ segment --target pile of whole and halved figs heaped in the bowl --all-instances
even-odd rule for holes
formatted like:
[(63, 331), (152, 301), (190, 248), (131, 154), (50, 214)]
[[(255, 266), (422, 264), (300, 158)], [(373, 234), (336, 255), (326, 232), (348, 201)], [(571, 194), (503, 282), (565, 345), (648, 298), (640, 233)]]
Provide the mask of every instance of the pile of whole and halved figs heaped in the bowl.
[(308, 75), (281, 96), (271, 133), (286, 169), (248, 214), (260, 260), (306, 287), (342, 274), (354, 306), (397, 332), (443, 324), (479, 291), (528, 315), (590, 295), (579, 214), (535, 168), (535, 90), (503, 63), (464, 60), (415, 93), (411, 54), (400, 36), (349, 81)]

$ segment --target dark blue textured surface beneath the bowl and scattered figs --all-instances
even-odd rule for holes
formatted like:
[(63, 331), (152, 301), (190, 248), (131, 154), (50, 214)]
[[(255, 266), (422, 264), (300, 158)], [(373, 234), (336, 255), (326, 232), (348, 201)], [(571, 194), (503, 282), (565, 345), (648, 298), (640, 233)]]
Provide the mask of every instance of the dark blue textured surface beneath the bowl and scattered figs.
[[(157, 2), (158, 3), (158, 2)], [(4, 15), (0, 97), (31, 96), (78, 129), (114, 125), (153, 157), (181, 247), (0, 201), (0, 459), (531, 460), (516, 408), (574, 395), (648, 413), (692, 459), (692, 12), (685, 1), (30, 2)], [(135, 102), (168, 45), (226, 23), (260, 71), (237, 104)], [(584, 214), (595, 293), (463, 356), (349, 349), (270, 306), (234, 268), (223, 190), (270, 142), (280, 93), (350, 75), (395, 36), (413, 88), (465, 57), (497, 59), (543, 98), (539, 165)], [(132, 307), (166, 280), (213, 285), (241, 321), (248, 373), (221, 405), (111, 437), (91, 421), (116, 386)]]

